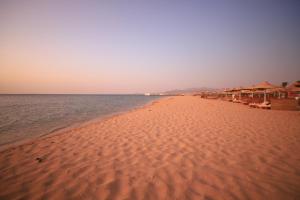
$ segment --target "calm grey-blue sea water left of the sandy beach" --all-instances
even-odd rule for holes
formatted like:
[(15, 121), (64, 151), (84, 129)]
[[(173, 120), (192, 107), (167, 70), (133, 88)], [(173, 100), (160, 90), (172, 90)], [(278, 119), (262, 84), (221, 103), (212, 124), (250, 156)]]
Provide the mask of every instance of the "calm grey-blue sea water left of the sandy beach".
[(0, 145), (128, 111), (157, 96), (0, 95)]

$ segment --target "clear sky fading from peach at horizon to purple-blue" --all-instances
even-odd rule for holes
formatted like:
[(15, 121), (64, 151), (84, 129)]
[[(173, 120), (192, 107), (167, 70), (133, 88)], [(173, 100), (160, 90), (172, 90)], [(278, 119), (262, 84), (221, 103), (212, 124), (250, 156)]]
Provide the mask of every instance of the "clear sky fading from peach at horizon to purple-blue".
[(300, 1), (0, 0), (0, 93), (300, 79)]

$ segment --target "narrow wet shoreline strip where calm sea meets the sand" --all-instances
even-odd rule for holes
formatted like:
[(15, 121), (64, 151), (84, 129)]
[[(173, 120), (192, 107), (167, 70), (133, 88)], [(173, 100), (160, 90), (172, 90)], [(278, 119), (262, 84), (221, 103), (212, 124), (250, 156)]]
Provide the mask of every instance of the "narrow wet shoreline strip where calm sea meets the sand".
[(64, 127), (56, 128), (55, 130), (50, 131), (48, 133), (42, 133), (42, 134), (30, 137), (30, 138), (24, 138), (24, 139), (8, 142), (8, 143), (5, 143), (5, 144), (1, 144), (0, 145), (0, 153), (7, 150), (7, 149), (10, 149), (10, 148), (14, 148), (14, 147), (21, 146), (21, 145), (26, 145), (27, 143), (34, 142), (35, 140), (40, 140), (40, 139), (43, 139), (45, 137), (49, 137), (50, 135), (64, 134), (65, 132), (69, 132), (72, 129), (81, 128), (81, 127), (84, 127), (84, 126), (91, 125), (93, 123), (101, 123), (101, 121), (104, 121), (104, 120), (107, 120), (107, 119), (110, 119), (110, 118), (113, 118), (113, 117), (117, 117), (119, 115), (123, 115), (123, 114), (126, 114), (126, 113), (130, 113), (130, 112), (133, 112), (133, 111), (138, 110), (138, 109), (146, 108), (146, 107), (152, 105), (153, 103), (155, 103), (156, 101), (159, 101), (159, 100), (165, 99), (165, 98), (170, 98), (170, 96), (165, 96), (165, 97), (161, 97), (159, 99), (150, 100), (149, 102), (145, 103), (144, 105), (135, 106), (135, 107), (129, 108), (128, 110), (114, 112), (114, 113), (111, 113), (111, 114), (108, 114), (108, 115), (104, 115), (102, 117), (96, 117), (96, 118), (89, 119), (89, 120), (83, 121), (83, 122), (75, 122), (75, 123), (72, 123), (72, 124), (64, 126)]

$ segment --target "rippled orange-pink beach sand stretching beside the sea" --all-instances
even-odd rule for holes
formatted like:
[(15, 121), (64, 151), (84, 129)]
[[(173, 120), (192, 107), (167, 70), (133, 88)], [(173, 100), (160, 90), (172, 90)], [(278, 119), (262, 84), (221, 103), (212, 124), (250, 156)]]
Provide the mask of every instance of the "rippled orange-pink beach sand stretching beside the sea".
[(300, 199), (300, 113), (163, 98), (2, 150), (0, 199)]

